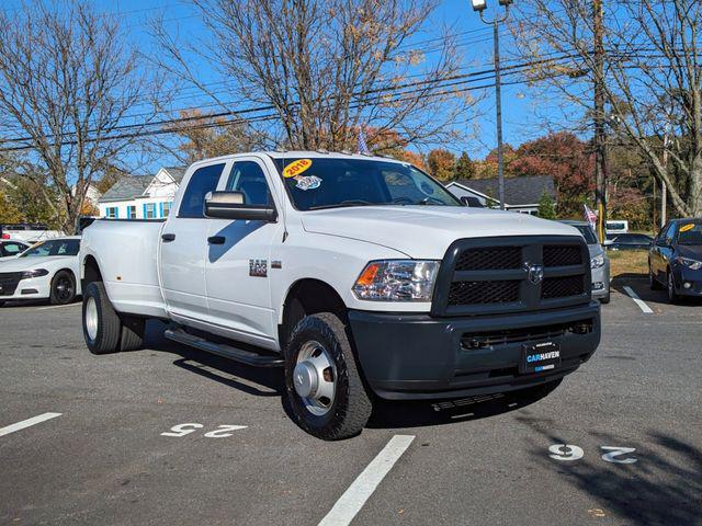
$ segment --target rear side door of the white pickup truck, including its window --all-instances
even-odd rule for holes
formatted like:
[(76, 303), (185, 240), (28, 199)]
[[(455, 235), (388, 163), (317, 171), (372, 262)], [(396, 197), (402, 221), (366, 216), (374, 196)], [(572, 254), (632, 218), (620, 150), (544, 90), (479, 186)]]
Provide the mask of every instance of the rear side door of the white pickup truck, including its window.
[(160, 272), (163, 298), (171, 316), (183, 323), (207, 316), (205, 258), (210, 219), (205, 195), (217, 187), (226, 163), (199, 168), (188, 181), (178, 210), (161, 232)]

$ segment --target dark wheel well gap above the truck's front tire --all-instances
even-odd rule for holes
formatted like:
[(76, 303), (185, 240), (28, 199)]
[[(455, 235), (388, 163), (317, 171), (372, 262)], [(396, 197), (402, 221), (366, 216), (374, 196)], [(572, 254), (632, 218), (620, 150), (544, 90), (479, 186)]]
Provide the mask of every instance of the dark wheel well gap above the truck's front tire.
[(333, 312), (342, 321), (347, 321), (347, 306), (333, 287), (313, 278), (296, 282), (287, 291), (283, 323), (278, 328), (281, 347), (284, 347), (299, 320), (317, 312)]

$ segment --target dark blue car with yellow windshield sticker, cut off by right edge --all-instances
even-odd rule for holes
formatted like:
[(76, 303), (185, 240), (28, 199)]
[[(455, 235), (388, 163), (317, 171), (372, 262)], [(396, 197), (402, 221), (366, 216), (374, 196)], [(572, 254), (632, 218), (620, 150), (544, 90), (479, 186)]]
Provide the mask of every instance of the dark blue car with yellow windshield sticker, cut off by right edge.
[(670, 301), (702, 297), (702, 219), (668, 221), (648, 251), (648, 279)]

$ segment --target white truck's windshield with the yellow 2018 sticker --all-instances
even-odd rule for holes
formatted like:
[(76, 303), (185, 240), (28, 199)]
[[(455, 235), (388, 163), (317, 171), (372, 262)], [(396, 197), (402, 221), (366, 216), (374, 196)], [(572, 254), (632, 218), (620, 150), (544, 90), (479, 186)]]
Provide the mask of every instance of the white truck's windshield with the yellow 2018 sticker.
[(299, 210), (367, 205), (461, 206), (441, 184), (406, 163), (365, 159), (275, 160)]

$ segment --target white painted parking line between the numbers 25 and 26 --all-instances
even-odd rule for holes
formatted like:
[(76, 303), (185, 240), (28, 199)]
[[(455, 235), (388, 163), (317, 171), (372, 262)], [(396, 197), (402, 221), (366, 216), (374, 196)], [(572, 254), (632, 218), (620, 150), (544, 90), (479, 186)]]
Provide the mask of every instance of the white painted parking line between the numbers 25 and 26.
[(350, 524), (414, 439), (415, 435), (393, 436), (321, 519), (319, 526)]

